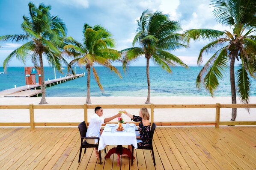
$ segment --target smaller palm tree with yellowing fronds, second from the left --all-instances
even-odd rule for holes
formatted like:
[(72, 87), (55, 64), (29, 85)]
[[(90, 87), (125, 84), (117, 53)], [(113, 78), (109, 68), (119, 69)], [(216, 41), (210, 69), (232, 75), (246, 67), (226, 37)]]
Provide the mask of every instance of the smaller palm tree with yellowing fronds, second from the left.
[(64, 46), (65, 53), (74, 57), (68, 64), (68, 70), (71, 66), (78, 64), (79, 66), (85, 65), (87, 70), (87, 95), (86, 104), (91, 103), (90, 98), (90, 72), (91, 68), (95, 81), (99, 88), (104, 92), (103, 87), (99, 81), (98, 73), (94, 68), (95, 64), (105, 66), (114, 71), (120, 78), (121, 75), (116, 67), (112, 66), (111, 61), (119, 59), (119, 52), (114, 49), (114, 40), (111, 38), (110, 32), (108, 32), (103, 26), (95, 25), (93, 28), (88, 24), (83, 26), (83, 44), (77, 42), (73, 38), (69, 37), (69, 43)]

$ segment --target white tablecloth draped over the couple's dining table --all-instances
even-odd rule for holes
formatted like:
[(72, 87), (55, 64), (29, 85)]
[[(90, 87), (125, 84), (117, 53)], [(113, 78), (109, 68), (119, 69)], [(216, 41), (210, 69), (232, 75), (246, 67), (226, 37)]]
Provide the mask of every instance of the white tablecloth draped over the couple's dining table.
[[(111, 129), (109, 124), (106, 124), (103, 133), (100, 137), (100, 142), (98, 144), (98, 150), (104, 149), (106, 145), (129, 145), (132, 144), (134, 148), (136, 149), (137, 146), (137, 139), (136, 139), (136, 132), (135, 128), (137, 127), (129, 127), (127, 130), (125, 127), (125, 124), (123, 124), (123, 127), (125, 128), (125, 131), (119, 132), (116, 131), (118, 127), (118, 124), (116, 124), (115, 132), (111, 133)], [(129, 131), (129, 132), (127, 132)]]

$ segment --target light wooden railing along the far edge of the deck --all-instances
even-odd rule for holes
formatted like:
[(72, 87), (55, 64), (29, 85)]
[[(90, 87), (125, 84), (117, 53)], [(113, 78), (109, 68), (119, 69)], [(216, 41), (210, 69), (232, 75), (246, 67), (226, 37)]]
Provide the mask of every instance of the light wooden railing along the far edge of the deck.
[[(0, 122), (0, 126), (30, 126), (33, 130), (35, 126), (77, 126), (80, 122), (35, 122), (34, 109), (83, 109), (84, 121), (88, 125), (87, 111), (94, 109), (99, 105), (0, 105), (0, 109), (29, 109), (30, 122)], [(151, 123), (154, 121), (154, 109), (198, 109), (198, 108), (215, 108), (215, 121), (188, 121), (188, 122), (155, 122), (158, 126), (196, 126), (196, 125), (256, 125), (256, 121), (220, 121), (220, 108), (256, 108), (256, 104), (101, 104), (104, 109), (140, 109), (146, 107), (151, 111)], [(104, 126), (104, 124), (103, 124)]]

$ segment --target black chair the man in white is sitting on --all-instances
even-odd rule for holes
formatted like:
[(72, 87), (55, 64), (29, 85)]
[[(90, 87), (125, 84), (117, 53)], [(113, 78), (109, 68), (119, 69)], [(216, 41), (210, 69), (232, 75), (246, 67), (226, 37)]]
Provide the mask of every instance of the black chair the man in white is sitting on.
[[(89, 147), (96, 147), (96, 148), (98, 148), (98, 144), (88, 144), (86, 142), (86, 140), (84, 140), (84, 139), (98, 139), (98, 143), (99, 143), (100, 138), (99, 137), (85, 137), (86, 136), (86, 132), (87, 132), (87, 126), (86, 126), (84, 121), (81, 122), (78, 125), (78, 129), (79, 129), (80, 136), (81, 136), (81, 146), (80, 146), (80, 153), (79, 153), (79, 159), (78, 159), (78, 162), (80, 162), (81, 153), (82, 153), (82, 149), (83, 148), (84, 148), (84, 153), (86, 152), (86, 148), (89, 148)], [(106, 153), (106, 149), (104, 151)], [(100, 164), (102, 164), (102, 162), (101, 162), (101, 151), (100, 150), (99, 150), (99, 156), (100, 156)]]

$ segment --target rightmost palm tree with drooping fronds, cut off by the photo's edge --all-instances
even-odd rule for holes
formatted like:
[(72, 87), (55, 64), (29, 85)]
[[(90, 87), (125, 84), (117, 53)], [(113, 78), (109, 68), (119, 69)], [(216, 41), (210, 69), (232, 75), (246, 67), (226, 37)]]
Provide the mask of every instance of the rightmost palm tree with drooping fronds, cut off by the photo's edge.
[[(219, 85), (218, 79), (223, 78), (223, 72), (229, 67), (232, 104), (236, 104), (235, 60), (238, 65), (237, 89), (241, 102), (247, 104), (250, 96), (250, 77), (256, 72), (256, 2), (255, 0), (212, 0), (214, 16), (219, 23), (230, 26), (233, 32), (213, 29), (191, 29), (184, 35), (189, 39), (213, 40), (204, 46), (198, 57), (198, 65), (202, 63), (202, 55), (214, 52), (202, 67), (196, 79), (200, 88), (203, 81), (205, 89), (211, 96)], [(253, 35), (254, 34), (254, 35)], [(205, 75), (206, 74), (206, 75)], [(249, 111), (249, 109), (248, 109)], [(236, 108), (232, 108), (231, 121), (235, 121)]]

